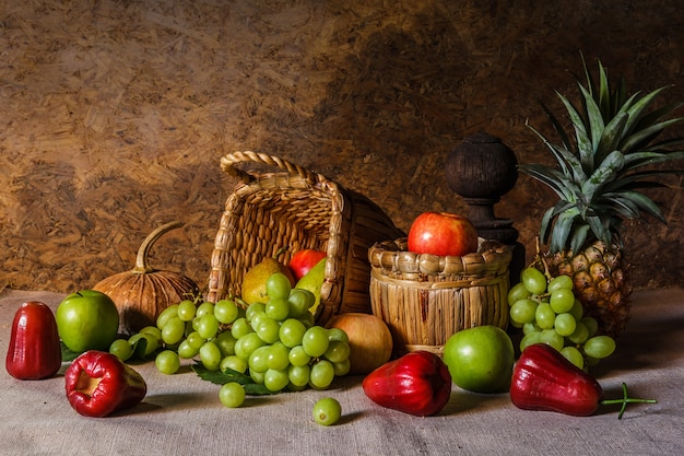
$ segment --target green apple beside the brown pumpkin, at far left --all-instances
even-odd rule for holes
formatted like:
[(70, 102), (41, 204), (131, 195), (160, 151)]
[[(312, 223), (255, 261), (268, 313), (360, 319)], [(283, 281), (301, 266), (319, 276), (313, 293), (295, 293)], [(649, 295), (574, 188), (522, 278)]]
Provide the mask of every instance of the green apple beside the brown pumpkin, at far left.
[(119, 330), (116, 304), (94, 290), (81, 290), (64, 297), (57, 306), (55, 319), (62, 342), (76, 353), (109, 350)]

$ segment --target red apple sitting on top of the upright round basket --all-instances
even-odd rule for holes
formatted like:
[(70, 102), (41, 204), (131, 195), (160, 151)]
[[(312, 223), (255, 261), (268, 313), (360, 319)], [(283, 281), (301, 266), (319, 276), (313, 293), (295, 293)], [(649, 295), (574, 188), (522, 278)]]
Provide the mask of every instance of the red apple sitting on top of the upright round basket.
[(416, 254), (462, 257), (477, 252), (477, 230), (461, 215), (423, 212), (409, 230), (408, 244)]

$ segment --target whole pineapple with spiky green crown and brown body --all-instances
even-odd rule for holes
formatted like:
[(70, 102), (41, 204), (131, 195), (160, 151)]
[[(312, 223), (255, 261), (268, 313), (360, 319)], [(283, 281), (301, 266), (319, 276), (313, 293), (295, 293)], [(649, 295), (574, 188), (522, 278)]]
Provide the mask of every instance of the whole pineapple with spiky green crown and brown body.
[(639, 190), (662, 186), (649, 178), (676, 173), (647, 166), (684, 157), (683, 138), (654, 141), (663, 130), (684, 120), (665, 119), (684, 103), (654, 108), (654, 100), (667, 87), (628, 96), (624, 78), (611, 90), (600, 61), (598, 83), (583, 58), (582, 65), (587, 84), (576, 78), (581, 105), (576, 107), (557, 93), (571, 122), (573, 139), (543, 104), (558, 142), (528, 125), (551, 151), (557, 167), (528, 164), (520, 171), (547, 185), (559, 198), (542, 218), (540, 237), (547, 250), (538, 255), (535, 266), (545, 268), (551, 277), (571, 277), (585, 315), (599, 321), (602, 334), (616, 337), (629, 318), (632, 292), (623, 259), (623, 222), (642, 220), (642, 213), (665, 222), (656, 202)]

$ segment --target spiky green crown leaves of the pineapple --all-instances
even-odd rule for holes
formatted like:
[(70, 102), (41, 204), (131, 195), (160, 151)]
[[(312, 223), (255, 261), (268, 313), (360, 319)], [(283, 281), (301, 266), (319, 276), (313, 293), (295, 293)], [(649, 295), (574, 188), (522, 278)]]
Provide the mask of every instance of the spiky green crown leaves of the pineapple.
[[(551, 151), (557, 166), (520, 165), (523, 173), (549, 186), (559, 198), (542, 217), (540, 235), (551, 252), (578, 252), (592, 239), (621, 244), (625, 219), (648, 213), (665, 222), (658, 204), (640, 190), (663, 187), (651, 178), (676, 174), (676, 169), (653, 169), (650, 165), (684, 159), (684, 138), (656, 139), (665, 129), (684, 121), (667, 118), (684, 103), (653, 108), (668, 86), (647, 94), (627, 95), (625, 79), (612, 90), (608, 72), (599, 61), (598, 83), (582, 56), (586, 85), (576, 77), (581, 104), (573, 104), (556, 91), (573, 125), (568, 132), (542, 103), (558, 141), (552, 142), (538, 129), (528, 127)], [(648, 169), (644, 169), (649, 166)], [(650, 179), (650, 180), (649, 180)]]

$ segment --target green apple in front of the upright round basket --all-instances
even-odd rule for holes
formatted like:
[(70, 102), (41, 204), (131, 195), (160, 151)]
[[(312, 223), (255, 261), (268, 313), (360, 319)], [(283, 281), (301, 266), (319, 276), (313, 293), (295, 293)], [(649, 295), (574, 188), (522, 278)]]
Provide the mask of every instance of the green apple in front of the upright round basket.
[(502, 328), (476, 326), (449, 337), (444, 362), (457, 386), (475, 393), (504, 393), (510, 386), (515, 351)]

